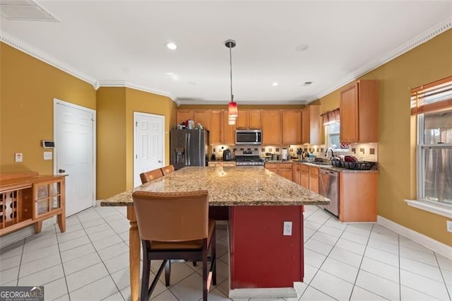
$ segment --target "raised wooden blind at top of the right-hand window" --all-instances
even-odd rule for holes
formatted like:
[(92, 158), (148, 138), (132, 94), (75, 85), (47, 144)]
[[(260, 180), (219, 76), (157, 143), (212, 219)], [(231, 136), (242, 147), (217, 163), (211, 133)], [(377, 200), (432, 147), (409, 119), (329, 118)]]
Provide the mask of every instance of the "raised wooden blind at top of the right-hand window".
[(452, 107), (452, 76), (411, 90), (411, 114)]

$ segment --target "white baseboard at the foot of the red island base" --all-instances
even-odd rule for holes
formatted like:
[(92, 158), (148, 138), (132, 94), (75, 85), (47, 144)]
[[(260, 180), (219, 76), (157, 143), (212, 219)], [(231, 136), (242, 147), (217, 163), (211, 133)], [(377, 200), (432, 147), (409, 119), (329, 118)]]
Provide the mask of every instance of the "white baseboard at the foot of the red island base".
[(234, 288), (229, 290), (231, 299), (297, 297), (295, 288)]

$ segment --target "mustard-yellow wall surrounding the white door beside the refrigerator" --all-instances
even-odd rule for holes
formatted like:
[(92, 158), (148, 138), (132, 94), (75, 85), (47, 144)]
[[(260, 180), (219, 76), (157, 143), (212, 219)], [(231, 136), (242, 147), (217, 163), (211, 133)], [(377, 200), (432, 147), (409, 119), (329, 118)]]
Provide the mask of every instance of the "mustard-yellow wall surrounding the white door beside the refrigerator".
[(131, 88), (97, 90), (97, 199), (133, 187), (133, 112), (165, 116), (165, 164), (176, 104)]

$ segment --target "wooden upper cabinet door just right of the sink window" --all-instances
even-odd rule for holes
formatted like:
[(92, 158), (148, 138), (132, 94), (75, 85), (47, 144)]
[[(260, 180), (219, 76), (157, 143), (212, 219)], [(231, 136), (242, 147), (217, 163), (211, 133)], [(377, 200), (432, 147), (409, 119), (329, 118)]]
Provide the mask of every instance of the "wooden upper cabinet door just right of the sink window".
[(357, 142), (358, 83), (340, 91), (340, 142)]

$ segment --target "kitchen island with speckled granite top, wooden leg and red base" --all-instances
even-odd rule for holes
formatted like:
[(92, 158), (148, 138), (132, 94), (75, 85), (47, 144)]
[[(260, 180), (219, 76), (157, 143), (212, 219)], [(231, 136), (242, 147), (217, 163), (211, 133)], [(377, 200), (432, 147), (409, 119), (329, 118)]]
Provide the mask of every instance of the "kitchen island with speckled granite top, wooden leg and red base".
[[(184, 167), (101, 201), (128, 206), (131, 300), (138, 300), (140, 279), (132, 192), (197, 190), (208, 190), (210, 206), (229, 206), (230, 297), (294, 294), (293, 283), (303, 281), (303, 206), (329, 200), (262, 167)], [(285, 222), (290, 235), (283, 235)]]

